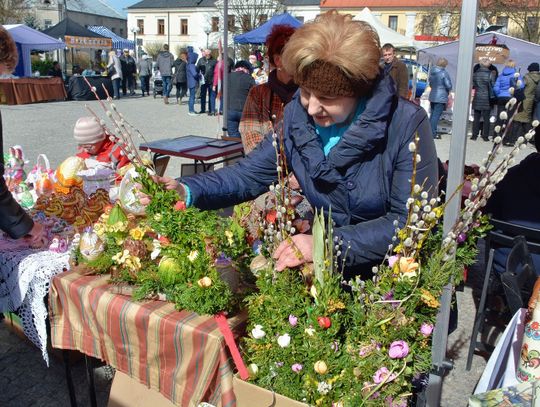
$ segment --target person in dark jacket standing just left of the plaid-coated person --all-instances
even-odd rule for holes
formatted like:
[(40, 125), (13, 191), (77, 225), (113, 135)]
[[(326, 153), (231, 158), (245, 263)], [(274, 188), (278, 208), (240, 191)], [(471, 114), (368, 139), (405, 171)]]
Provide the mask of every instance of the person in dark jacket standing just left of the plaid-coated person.
[(255, 86), (255, 80), (251, 76), (251, 64), (247, 61), (238, 61), (229, 75), (229, 113), (227, 116), (229, 137), (240, 137), (238, 126), (244, 104), (253, 86)]

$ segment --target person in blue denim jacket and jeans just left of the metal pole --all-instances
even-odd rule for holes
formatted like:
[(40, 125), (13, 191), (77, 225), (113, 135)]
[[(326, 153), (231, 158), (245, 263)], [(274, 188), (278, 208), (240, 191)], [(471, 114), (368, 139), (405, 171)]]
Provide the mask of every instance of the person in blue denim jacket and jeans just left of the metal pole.
[(445, 58), (439, 58), (437, 64), (431, 68), (429, 73), (429, 86), (431, 87), (429, 92), (429, 102), (431, 104), (429, 121), (431, 123), (431, 133), (433, 138), (436, 139), (441, 138), (437, 134), (437, 124), (439, 124), (442, 112), (446, 109), (448, 94), (452, 90), (452, 80), (445, 69), (447, 65), (448, 61)]

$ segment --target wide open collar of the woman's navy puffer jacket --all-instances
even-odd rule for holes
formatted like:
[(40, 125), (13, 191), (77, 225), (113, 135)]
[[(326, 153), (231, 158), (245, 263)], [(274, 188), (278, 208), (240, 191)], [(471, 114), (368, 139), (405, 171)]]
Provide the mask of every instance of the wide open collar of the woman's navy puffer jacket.
[(290, 137), (314, 183), (338, 184), (341, 173), (362, 161), (374, 149), (386, 141), (386, 128), (396, 101), (395, 89), (389, 76), (379, 77), (366, 109), (347, 129), (328, 157), (323, 152), (322, 142), (315, 131), (313, 118), (300, 103), (299, 92), (289, 105)]

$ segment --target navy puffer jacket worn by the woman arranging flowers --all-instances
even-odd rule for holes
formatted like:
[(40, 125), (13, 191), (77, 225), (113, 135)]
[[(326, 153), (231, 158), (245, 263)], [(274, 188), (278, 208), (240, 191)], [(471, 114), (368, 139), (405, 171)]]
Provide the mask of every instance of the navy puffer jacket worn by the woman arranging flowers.
[[(394, 234), (394, 220), (403, 226), (410, 195), (412, 153), (418, 134), (416, 182), (436, 190), (437, 155), (424, 109), (396, 96), (390, 79), (376, 85), (366, 109), (327, 157), (313, 119), (300, 103), (299, 92), (285, 108), (284, 148), (287, 165), (314, 208), (332, 208), (335, 234), (350, 245), (345, 277), (369, 273), (383, 259)], [(193, 203), (217, 209), (253, 199), (277, 179), (272, 137), (266, 138), (234, 166), (181, 179)]]

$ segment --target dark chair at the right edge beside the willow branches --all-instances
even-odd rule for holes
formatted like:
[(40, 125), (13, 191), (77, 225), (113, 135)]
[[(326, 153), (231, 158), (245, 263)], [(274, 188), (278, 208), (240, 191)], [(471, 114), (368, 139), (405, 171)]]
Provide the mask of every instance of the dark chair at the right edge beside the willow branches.
[[(506, 300), (511, 301), (511, 303), (508, 304), (510, 310), (514, 309), (519, 304), (526, 303), (528, 298), (525, 298), (524, 302), (523, 299), (518, 300), (520, 297), (518, 293), (521, 291), (521, 288), (526, 287), (527, 282), (530, 281), (531, 274), (529, 271), (532, 271), (532, 276), (536, 278), (534, 265), (532, 265), (529, 253), (540, 254), (540, 230), (497, 219), (492, 219), (490, 223), (493, 225), (493, 230), (489, 231), (486, 237), (486, 274), (478, 310), (476, 311), (476, 316), (474, 318), (473, 331), (467, 355), (467, 370), (471, 369), (472, 358), (477, 349), (484, 352), (490, 351), (487, 344), (478, 340), (478, 334), (483, 333), (484, 324), (486, 322), (486, 303), (488, 295), (500, 291), (500, 289), (497, 290), (497, 287), (500, 287), (501, 283), (503, 283)], [(520, 237), (521, 239), (515, 240), (517, 237)], [(502, 276), (493, 273), (493, 257), (495, 254), (495, 249), (492, 247), (493, 245), (496, 245), (497, 248), (512, 248), (512, 251), (514, 252), (512, 256), (508, 256), (506, 263), (507, 269), (503, 273), (503, 275), (509, 273), (506, 274), (505, 277), (506, 283), (502, 282)], [(515, 246), (517, 246), (517, 248), (514, 251)], [(525, 256), (523, 247), (527, 249)], [(527, 264), (527, 269), (529, 271), (523, 276), (519, 275), (518, 277), (518, 266), (519, 264), (523, 264), (524, 261)], [(508, 266), (511, 266), (511, 268), (508, 268)], [(506, 284), (506, 288), (504, 288), (504, 284)], [(534, 280), (533, 283), (530, 284), (530, 290), (532, 290), (533, 284)], [(523, 294), (521, 295), (521, 298), (523, 298)], [(520, 307), (518, 306), (518, 308)]]

